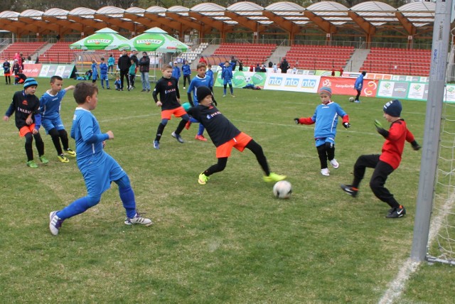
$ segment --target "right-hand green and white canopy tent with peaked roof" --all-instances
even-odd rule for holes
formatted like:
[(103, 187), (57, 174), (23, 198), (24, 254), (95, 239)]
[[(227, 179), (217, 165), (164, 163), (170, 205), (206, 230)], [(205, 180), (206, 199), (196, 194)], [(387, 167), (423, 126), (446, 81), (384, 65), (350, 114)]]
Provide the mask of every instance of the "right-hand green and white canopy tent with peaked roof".
[(161, 28), (150, 28), (129, 40), (135, 50), (141, 52), (176, 53), (186, 52), (188, 45), (168, 35)]

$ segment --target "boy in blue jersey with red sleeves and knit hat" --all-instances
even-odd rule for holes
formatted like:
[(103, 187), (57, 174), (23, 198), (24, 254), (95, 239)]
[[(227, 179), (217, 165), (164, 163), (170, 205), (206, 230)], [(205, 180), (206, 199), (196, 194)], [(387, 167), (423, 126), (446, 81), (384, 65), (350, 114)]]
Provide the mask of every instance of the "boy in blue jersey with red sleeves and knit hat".
[(314, 140), (318, 151), (319, 161), (321, 162), (321, 174), (328, 176), (330, 172), (327, 168), (327, 160), (334, 169), (338, 169), (339, 164), (335, 159), (335, 136), (338, 116), (343, 118), (343, 126), (348, 129), (349, 116), (336, 102), (331, 101), (332, 90), (330, 87), (321, 87), (319, 97), (321, 104), (316, 107), (313, 116), (306, 118), (295, 118), (296, 124), (314, 124)]

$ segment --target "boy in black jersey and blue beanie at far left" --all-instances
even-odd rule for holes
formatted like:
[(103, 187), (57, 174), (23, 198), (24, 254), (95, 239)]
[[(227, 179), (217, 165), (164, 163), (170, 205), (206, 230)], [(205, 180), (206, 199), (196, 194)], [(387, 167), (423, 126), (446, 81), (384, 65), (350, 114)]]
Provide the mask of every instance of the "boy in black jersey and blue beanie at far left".
[(35, 145), (41, 163), (49, 163), (44, 156), (44, 142), (39, 132), (41, 114), (40, 101), (35, 96), (36, 87), (38, 87), (38, 82), (33, 78), (27, 78), (23, 82), (23, 91), (14, 93), (13, 101), (3, 117), (4, 121), (9, 121), (9, 117), (14, 113), (19, 135), (26, 138), (27, 165), (30, 168), (38, 168), (38, 165), (33, 161), (33, 138), (35, 138)]

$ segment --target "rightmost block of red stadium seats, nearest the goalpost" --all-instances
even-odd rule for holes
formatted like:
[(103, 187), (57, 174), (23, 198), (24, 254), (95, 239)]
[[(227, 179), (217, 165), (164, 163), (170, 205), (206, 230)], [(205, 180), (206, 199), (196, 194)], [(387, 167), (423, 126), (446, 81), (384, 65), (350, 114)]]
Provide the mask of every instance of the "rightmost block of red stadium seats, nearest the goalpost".
[(394, 75), (428, 76), (430, 50), (371, 48), (360, 70)]

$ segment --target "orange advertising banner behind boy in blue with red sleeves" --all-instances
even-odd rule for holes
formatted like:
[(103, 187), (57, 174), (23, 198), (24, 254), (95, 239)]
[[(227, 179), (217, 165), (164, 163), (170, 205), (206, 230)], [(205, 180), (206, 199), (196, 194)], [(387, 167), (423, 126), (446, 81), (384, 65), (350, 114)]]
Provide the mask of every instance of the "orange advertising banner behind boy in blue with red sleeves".
[[(319, 88), (331, 87), (332, 94), (340, 95), (355, 95), (357, 91), (354, 89), (354, 78), (346, 77), (321, 77)], [(378, 80), (363, 80), (363, 89), (360, 96), (375, 97), (378, 91)]]

